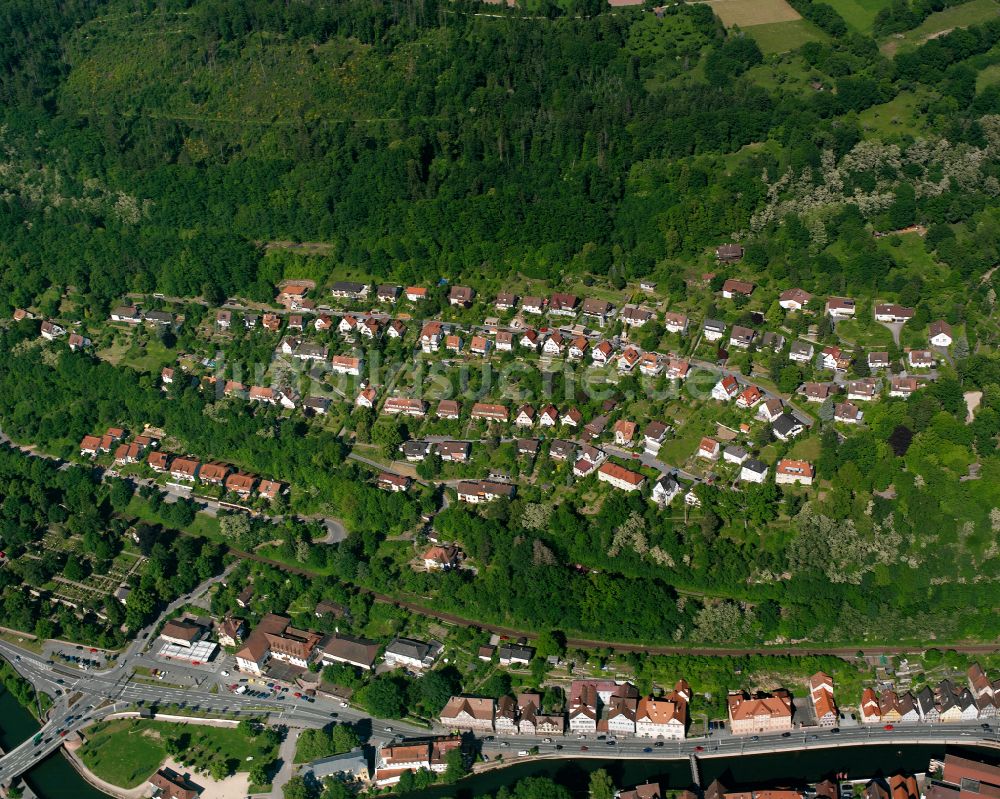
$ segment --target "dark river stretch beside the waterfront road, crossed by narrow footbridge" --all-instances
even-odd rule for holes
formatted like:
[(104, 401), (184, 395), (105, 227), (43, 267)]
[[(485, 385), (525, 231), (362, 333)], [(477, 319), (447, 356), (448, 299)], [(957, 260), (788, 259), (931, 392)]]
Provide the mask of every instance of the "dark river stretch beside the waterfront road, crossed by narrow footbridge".
[[(932, 757), (944, 756), (944, 746), (854, 746), (842, 749), (814, 749), (803, 752), (754, 755), (752, 757), (702, 758), (702, 784), (721, 778), (729, 788), (740, 786), (797, 786), (818, 782), (824, 777), (844, 772), (850, 779), (864, 779), (899, 771), (919, 773), (927, 770)], [(950, 752), (961, 751), (948, 747)], [(975, 750), (996, 759), (996, 752)], [(656, 781), (668, 790), (687, 788), (691, 783), (687, 760), (538, 760), (469, 777), (457, 785), (436, 786), (406, 794), (406, 799), (473, 799), (492, 795), (503, 785), (524, 777), (549, 777), (570, 790), (574, 797), (587, 796), (590, 773), (603, 768), (615, 785), (627, 788)]]

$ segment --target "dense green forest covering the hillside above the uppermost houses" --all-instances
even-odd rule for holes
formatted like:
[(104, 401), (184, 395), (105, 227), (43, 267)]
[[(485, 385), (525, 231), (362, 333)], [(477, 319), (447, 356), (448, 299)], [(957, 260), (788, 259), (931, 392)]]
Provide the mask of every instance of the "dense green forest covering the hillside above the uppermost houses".
[[(751, 265), (806, 288), (899, 290), (858, 227), (923, 222), (956, 279), (992, 265), (1000, 89), (971, 64), (1000, 22), (890, 59), (798, 5), (829, 36), (794, 57), (835, 91), (751, 79), (754, 39), (698, 4), (5, 4), (0, 297), (268, 299), (274, 240), (400, 282), (676, 283), (672, 259), (746, 231)], [(914, 92), (920, 124), (859, 150), (859, 113)]]

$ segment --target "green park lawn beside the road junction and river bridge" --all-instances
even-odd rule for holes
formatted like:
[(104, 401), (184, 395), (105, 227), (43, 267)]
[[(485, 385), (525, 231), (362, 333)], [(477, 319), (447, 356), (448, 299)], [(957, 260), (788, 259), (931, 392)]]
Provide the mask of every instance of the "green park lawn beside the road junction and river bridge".
[(185, 760), (193, 768), (204, 768), (223, 758), (231, 771), (246, 771), (250, 767), (248, 757), (258, 760), (274, 756), (273, 749), (263, 749), (234, 727), (128, 719), (92, 727), (80, 757), (101, 779), (122, 788), (135, 788), (166, 759), (167, 739), (180, 736), (189, 738)]

